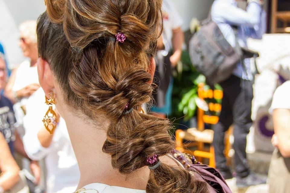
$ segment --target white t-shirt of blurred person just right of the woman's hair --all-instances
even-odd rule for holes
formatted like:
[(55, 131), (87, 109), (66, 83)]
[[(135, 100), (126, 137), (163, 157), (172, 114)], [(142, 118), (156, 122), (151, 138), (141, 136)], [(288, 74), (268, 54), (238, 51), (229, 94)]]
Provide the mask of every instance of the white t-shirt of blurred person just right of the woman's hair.
[(163, 0), (163, 43), (165, 50), (169, 52), (172, 49), (172, 30), (182, 26), (182, 18), (175, 9), (170, 0)]

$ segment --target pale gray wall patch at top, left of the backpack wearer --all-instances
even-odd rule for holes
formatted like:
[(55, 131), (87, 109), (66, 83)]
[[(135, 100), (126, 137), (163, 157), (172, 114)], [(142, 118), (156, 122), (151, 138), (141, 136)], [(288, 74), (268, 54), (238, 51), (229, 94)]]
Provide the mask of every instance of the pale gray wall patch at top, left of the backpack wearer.
[(189, 29), (189, 23), (193, 17), (198, 20), (207, 18), (209, 9), (214, 0), (171, 0), (183, 17), (183, 30)]

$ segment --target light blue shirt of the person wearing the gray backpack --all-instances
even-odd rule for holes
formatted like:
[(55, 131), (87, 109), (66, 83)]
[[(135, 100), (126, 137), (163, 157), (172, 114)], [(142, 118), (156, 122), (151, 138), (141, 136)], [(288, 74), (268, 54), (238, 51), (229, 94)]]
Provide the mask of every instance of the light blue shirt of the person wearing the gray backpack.
[[(237, 26), (237, 39), (241, 47), (247, 47), (247, 37), (262, 39), (266, 32), (266, 12), (261, 5), (251, 2), (247, 11), (238, 8), (235, 0), (215, 0), (211, 8), (214, 21), (231, 46), (236, 46), (236, 37), (232, 26)], [(245, 80), (252, 80), (250, 59), (245, 59), (247, 72), (239, 63), (233, 74)]]

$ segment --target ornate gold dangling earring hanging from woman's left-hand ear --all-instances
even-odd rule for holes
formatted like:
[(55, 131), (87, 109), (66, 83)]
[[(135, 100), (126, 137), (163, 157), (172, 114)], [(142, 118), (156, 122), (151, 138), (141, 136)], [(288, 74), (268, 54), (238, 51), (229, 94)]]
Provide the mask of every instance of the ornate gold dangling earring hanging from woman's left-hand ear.
[(52, 109), (52, 105), (55, 104), (53, 91), (49, 92), (49, 98), (45, 96), (45, 103), (48, 105), (48, 110), (44, 115), (42, 122), (46, 130), (52, 135), (59, 121), (54, 110)]

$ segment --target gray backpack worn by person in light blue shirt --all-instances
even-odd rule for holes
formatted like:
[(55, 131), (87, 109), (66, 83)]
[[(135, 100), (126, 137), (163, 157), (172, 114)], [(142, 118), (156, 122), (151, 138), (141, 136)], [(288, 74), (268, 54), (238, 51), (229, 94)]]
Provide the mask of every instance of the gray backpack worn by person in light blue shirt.
[(241, 61), (237, 52), (224, 38), (218, 25), (209, 18), (201, 23), (200, 29), (189, 42), (192, 65), (205, 75), (210, 85), (230, 77)]

